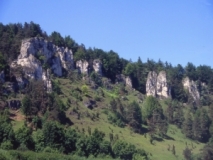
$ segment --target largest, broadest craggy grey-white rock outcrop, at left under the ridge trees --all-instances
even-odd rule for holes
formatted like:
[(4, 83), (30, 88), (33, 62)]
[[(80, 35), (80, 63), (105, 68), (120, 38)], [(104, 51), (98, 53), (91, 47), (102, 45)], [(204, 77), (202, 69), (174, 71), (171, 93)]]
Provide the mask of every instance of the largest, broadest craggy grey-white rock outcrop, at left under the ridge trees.
[(22, 41), (20, 55), (11, 66), (21, 65), (29, 78), (42, 78), (42, 65), (49, 65), (56, 76), (62, 76), (62, 68), (73, 68), (73, 54), (68, 48), (58, 47), (43, 38)]

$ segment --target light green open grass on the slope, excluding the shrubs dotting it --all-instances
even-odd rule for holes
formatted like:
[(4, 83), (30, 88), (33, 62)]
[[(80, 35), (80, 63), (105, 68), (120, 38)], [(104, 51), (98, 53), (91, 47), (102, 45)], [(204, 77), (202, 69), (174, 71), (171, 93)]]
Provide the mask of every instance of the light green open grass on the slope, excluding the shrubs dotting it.
[[(92, 131), (94, 131), (95, 128), (105, 133), (105, 138), (109, 140), (109, 134), (112, 133), (114, 136), (118, 135), (120, 140), (124, 140), (128, 143), (134, 144), (137, 148), (144, 149), (146, 152), (149, 153), (149, 157), (151, 157), (152, 160), (181, 160), (184, 159), (183, 157), (183, 150), (187, 146), (192, 149), (193, 154), (199, 154), (200, 150), (203, 148), (204, 144), (197, 143), (195, 141), (192, 141), (190, 139), (187, 139), (182, 133), (179, 128), (177, 128), (174, 125), (169, 125), (169, 129), (167, 132), (168, 138), (167, 139), (161, 139), (157, 137), (156, 140), (154, 140), (154, 143), (150, 143), (150, 137), (147, 134), (147, 136), (142, 134), (133, 133), (128, 126), (124, 128), (120, 128), (118, 126), (112, 125), (107, 120), (107, 115), (103, 113), (103, 108), (107, 108), (109, 105), (109, 102), (111, 98), (118, 98), (122, 97), (117, 92), (115, 93), (113, 90), (107, 90), (103, 89), (104, 91), (104, 97), (101, 97), (100, 102), (96, 102), (96, 106), (93, 110), (90, 110), (84, 106), (84, 101), (86, 99), (95, 99), (95, 96), (97, 95), (96, 90), (89, 89), (89, 96), (85, 97), (82, 93), (82, 101), (80, 101), (78, 98), (73, 97), (73, 91), (76, 88), (81, 88), (82, 85), (85, 84), (83, 81), (78, 82), (71, 82), (68, 79), (58, 79), (56, 78), (55, 81), (59, 82), (59, 86), (61, 88), (62, 94), (60, 95), (61, 100), (64, 102), (65, 105), (68, 105), (67, 99), (70, 99), (72, 102), (69, 104), (68, 110), (66, 111), (67, 117), (70, 118), (70, 120), (74, 123), (71, 127), (76, 129), (79, 132), (83, 132), (84, 134), (88, 134), (88, 127), (91, 128)], [(127, 93), (124, 94), (126, 96), (127, 100), (122, 100), (124, 104), (128, 104), (132, 101), (138, 102), (138, 96), (141, 94), (138, 91), (134, 91), (132, 89), (126, 88)], [(98, 95), (100, 96), (100, 95)], [(142, 98), (144, 98), (144, 95), (140, 95)], [(162, 108), (166, 109), (167, 105), (165, 104), (165, 101), (160, 101)], [(78, 106), (78, 107), (76, 107)], [(142, 107), (142, 103), (140, 103), (140, 106)], [(70, 114), (73, 109), (77, 109), (77, 112), (81, 113), (80, 119), (75, 114)], [(90, 116), (86, 116), (86, 113), (89, 113)], [(99, 117), (92, 120), (90, 117), (92, 114), (99, 113)], [(13, 121), (13, 127), (14, 130), (17, 130), (20, 128), (24, 122), (23, 121)], [(175, 146), (175, 152), (176, 155), (173, 155), (171, 150), (168, 151), (168, 148), (172, 148), (172, 146)]]

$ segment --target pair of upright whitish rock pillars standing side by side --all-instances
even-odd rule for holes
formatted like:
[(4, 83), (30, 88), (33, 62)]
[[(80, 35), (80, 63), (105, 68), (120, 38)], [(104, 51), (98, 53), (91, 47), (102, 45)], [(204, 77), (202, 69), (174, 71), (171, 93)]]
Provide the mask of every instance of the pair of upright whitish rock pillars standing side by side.
[(159, 98), (169, 98), (171, 96), (165, 71), (159, 72), (158, 75), (155, 71), (149, 72), (146, 81), (146, 95)]

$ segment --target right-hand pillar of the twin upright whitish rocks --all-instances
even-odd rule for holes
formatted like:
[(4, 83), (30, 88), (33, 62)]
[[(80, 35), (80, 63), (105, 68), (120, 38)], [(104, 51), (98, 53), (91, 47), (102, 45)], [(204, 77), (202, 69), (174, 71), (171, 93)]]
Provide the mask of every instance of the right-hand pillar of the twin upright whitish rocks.
[(157, 96), (160, 98), (169, 98), (171, 96), (165, 71), (160, 71), (157, 77)]

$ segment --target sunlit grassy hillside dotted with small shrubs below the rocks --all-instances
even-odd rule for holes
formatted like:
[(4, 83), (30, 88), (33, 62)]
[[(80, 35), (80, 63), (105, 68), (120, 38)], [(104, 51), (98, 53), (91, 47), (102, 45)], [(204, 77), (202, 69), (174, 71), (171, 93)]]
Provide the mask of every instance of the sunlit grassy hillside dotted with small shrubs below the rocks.
[[(119, 93), (119, 84), (113, 86), (111, 90), (106, 88), (92, 89), (86, 81), (80, 80), (72, 82), (69, 79), (56, 78), (54, 82), (58, 84), (61, 89), (60, 99), (65, 104), (66, 116), (73, 123), (71, 127), (78, 132), (88, 134), (88, 128), (93, 131), (97, 128), (105, 133), (105, 138), (109, 140), (109, 134), (112, 133), (117, 136), (118, 139), (124, 140), (128, 143), (134, 144), (137, 148), (144, 149), (149, 153), (149, 157), (153, 160), (164, 159), (184, 159), (183, 150), (188, 146), (191, 149), (193, 155), (200, 153), (204, 144), (192, 141), (185, 137), (181, 133), (181, 130), (175, 125), (169, 125), (167, 131), (167, 138), (155, 137), (153, 144), (150, 143), (149, 134), (134, 133), (129, 126), (124, 128), (118, 127), (108, 121), (108, 107), (112, 98), (121, 99), (122, 103), (128, 104), (135, 100), (139, 102), (140, 107), (143, 107), (144, 95), (131, 88), (125, 88), (126, 92)], [(82, 86), (86, 85), (88, 90), (86, 93), (82, 93)], [(100, 90), (102, 93), (100, 93)], [(103, 94), (103, 95), (101, 95)], [(125, 98), (124, 98), (125, 97)], [(140, 98), (140, 99), (139, 99)], [(89, 100), (95, 101), (92, 104), (93, 109), (89, 109), (85, 106), (85, 103)], [(164, 111), (166, 108), (165, 101), (160, 102)], [(11, 111), (12, 113), (12, 111)], [(14, 130), (20, 128), (24, 123), (23, 115), (21, 112), (16, 111), (13, 118)], [(143, 126), (146, 129), (147, 126)], [(172, 147), (175, 147), (175, 155), (172, 154)]]

